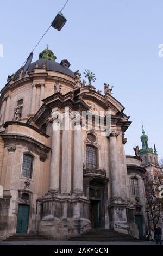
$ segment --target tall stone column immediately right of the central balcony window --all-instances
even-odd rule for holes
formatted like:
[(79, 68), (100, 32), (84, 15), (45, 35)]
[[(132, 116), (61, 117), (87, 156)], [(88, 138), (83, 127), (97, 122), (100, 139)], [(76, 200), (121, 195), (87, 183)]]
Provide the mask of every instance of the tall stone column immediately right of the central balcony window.
[(111, 173), (111, 186), (112, 186), (112, 198), (121, 198), (121, 180), (120, 170), (118, 168), (118, 152), (117, 152), (117, 136), (119, 132), (112, 132), (110, 138), (110, 173)]

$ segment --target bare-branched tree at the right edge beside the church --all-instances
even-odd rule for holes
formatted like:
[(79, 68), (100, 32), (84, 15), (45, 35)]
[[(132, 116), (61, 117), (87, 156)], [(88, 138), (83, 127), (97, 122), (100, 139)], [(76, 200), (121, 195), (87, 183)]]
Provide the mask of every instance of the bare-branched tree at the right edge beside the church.
[(157, 224), (163, 221), (163, 199), (159, 187), (163, 185), (163, 173), (155, 170), (154, 175), (145, 173), (145, 192), (148, 207), (149, 228), (154, 232)]

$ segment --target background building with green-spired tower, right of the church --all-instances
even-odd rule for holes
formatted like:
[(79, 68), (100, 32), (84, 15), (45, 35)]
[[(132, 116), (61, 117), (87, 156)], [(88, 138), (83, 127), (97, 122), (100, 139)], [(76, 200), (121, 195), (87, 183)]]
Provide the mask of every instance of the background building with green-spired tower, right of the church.
[(141, 142), (142, 148), (140, 149), (140, 155), (142, 157), (142, 167), (146, 169), (145, 190), (149, 227), (151, 227), (151, 230), (154, 230), (156, 224), (158, 224), (162, 227), (163, 231), (163, 200), (159, 198), (159, 186), (163, 185), (162, 166), (159, 165), (158, 153), (155, 145), (154, 150), (149, 148), (148, 136), (145, 134), (143, 127)]

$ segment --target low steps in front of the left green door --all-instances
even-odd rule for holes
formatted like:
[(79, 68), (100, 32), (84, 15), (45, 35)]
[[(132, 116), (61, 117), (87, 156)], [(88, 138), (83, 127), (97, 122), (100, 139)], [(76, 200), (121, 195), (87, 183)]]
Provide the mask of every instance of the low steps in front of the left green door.
[(33, 240), (48, 240), (48, 239), (43, 235), (14, 234), (13, 236), (8, 237), (4, 241), (33, 241)]

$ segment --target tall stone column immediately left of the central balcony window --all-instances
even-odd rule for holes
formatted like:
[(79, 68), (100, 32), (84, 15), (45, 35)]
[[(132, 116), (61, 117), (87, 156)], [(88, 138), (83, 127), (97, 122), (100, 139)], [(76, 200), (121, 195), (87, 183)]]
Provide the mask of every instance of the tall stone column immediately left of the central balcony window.
[(74, 126), (73, 192), (83, 193), (82, 127)]

